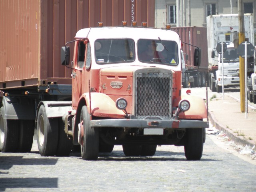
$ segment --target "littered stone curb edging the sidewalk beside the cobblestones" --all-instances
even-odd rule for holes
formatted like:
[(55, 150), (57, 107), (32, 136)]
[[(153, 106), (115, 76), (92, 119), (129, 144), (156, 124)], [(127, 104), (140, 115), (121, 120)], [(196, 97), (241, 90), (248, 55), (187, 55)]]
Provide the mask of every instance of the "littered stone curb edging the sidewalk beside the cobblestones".
[(236, 136), (233, 133), (231, 133), (230, 129), (226, 128), (224, 125), (220, 124), (218, 122), (218, 120), (216, 120), (216, 118), (212, 112), (209, 111), (208, 114), (209, 114), (209, 119), (210, 119), (210, 122), (212, 123), (212, 125), (216, 129), (223, 131), (226, 134), (226, 136), (228, 136), (228, 138), (233, 140), (236, 144), (240, 144), (242, 146), (248, 145), (251, 147), (253, 147), (255, 145), (254, 141), (248, 141), (242, 136)]

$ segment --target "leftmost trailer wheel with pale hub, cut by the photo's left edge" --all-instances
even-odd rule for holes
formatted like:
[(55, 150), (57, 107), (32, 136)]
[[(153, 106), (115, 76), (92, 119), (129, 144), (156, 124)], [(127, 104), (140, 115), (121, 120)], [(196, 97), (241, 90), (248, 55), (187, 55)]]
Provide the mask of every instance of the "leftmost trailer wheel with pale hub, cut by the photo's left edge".
[(0, 109), (0, 151), (16, 152), (18, 148), (18, 121), (4, 118), (4, 107)]

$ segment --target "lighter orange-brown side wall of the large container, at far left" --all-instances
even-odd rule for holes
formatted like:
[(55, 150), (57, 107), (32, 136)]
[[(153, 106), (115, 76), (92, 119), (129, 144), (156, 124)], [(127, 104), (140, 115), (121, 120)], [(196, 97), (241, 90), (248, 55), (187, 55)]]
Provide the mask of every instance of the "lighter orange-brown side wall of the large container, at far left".
[(0, 1), (0, 81), (38, 76), (39, 1)]

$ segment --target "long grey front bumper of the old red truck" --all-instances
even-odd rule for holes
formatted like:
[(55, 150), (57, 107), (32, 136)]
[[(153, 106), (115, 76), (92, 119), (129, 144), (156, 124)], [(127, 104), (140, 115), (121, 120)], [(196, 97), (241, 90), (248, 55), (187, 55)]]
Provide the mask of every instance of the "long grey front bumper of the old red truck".
[(98, 128), (209, 128), (209, 122), (201, 120), (104, 119), (91, 120), (90, 124)]

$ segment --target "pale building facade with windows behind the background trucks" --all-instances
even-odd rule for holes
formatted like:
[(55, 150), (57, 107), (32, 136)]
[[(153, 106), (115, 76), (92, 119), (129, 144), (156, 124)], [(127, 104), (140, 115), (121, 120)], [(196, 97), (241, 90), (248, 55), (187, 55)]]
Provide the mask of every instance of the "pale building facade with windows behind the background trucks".
[[(256, 28), (256, 0), (244, 0), (244, 13), (251, 13)], [(155, 27), (206, 26), (206, 17), (238, 13), (238, 0), (156, 0)]]

